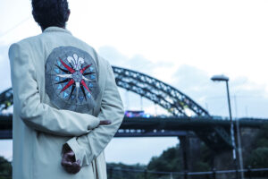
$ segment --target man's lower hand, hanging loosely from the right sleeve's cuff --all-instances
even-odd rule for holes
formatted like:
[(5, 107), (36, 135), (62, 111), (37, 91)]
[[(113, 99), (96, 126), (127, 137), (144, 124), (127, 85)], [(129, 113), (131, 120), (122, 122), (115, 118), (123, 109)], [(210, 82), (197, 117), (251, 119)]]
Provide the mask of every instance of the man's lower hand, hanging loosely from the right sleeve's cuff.
[(62, 166), (69, 174), (77, 174), (80, 172), (80, 160), (75, 161), (74, 152), (67, 145), (63, 150)]

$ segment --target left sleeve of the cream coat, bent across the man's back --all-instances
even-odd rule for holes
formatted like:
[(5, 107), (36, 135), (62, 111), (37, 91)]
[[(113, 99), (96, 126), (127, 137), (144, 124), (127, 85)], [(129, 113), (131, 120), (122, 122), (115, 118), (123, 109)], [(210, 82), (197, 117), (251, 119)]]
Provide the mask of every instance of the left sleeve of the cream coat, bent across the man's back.
[(14, 112), (30, 128), (59, 136), (80, 136), (99, 124), (93, 115), (50, 107), (40, 100), (38, 81), (29, 45), (13, 44), (9, 49)]

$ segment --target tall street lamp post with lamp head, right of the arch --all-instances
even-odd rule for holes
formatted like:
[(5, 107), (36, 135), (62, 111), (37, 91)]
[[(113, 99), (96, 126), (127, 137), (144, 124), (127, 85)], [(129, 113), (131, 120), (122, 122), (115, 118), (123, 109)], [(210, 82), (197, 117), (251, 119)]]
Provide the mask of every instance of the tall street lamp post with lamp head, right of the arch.
[[(234, 129), (233, 129), (233, 120), (232, 120), (232, 116), (231, 116), (231, 109), (230, 109), (230, 92), (229, 92), (229, 78), (227, 76), (224, 75), (214, 75), (211, 78), (212, 81), (225, 81), (226, 82), (226, 90), (227, 90), (227, 98), (228, 98), (228, 107), (229, 107), (229, 115), (230, 115), (230, 139), (231, 139), (231, 145), (232, 145), (232, 158), (235, 162), (235, 165), (237, 167), (238, 170), (238, 160), (237, 160), (237, 156), (236, 156), (236, 144), (235, 144), (235, 137), (234, 137)], [(238, 127), (238, 126), (237, 126)], [(238, 131), (239, 132), (239, 131)], [(241, 155), (239, 155), (239, 157), (241, 157)], [(243, 169), (243, 166), (241, 166), (242, 164), (240, 164), (240, 168)], [(243, 171), (241, 171), (243, 172)], [(239, 174), (237, 173), (237, 178), (239, 178)], [(242, 175), (243, 178), (243, 175)]]

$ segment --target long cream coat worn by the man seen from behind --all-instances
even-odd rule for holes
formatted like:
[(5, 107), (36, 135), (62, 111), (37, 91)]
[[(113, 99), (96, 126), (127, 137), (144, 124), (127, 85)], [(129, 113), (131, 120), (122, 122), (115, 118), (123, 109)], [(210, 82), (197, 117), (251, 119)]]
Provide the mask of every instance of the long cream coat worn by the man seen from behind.
[[(98, 68), (96, 106), (87, 113), (55, 107), (46, 93), (45, 64), (56, 47), (76, 47)], [(13, 84), (13, 179), (105, 179), (104, 149), (123, 118), (113, 70), (105, 59), (71, 32), (49, 27), (9, 49)], [(99, 126), (100, 120), (111, 120)], [(76, 175), (61, 166), (63, 144), (81, 161)]]

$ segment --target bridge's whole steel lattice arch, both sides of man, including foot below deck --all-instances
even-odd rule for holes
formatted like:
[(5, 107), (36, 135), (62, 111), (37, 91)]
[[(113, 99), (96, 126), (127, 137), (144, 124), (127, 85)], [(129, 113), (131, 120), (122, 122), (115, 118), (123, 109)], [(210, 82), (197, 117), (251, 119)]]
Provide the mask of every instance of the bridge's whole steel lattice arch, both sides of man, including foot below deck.
[[(181, 117), (195, 119), (196, 116), (212, 119), (212, 116), (194, 100), (182, 93), (180, 90), (159, 81), (142, 72), (135, 72), (126, 68), (113, 66), (113, 73), (116, 84), (125, 90), (137, 93), (143, 98), (153, 101), (163, 107), (174, 117), (180, 120)], [(5, 108), (13, 105), (13, 90), (10, 88), (0, 94), (0, 113)], [(201, 120), (201, 119), (197, 119)], [(197, 136), (205, 141), (206, 145), (214, 150), (231, 149), (230, 133), (227, 128), (223, 128), (212, 122), (202, 129), (194, 130)], [(147, 129), (145, 132), (152, 132), (154, 129)]]

